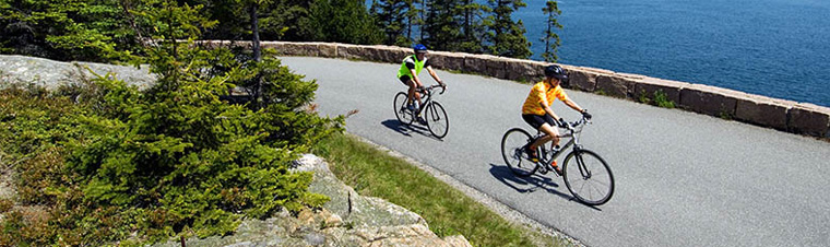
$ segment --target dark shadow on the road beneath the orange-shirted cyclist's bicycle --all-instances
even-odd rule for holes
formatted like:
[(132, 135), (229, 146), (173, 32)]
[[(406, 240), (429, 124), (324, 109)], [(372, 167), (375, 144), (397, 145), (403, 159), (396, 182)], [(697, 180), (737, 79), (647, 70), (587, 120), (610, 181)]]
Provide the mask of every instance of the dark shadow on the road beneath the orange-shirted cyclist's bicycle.
[[(573, 202), (583, 204), (570, 193), (560, 192), (557, 188), (564, 188), (564, 187), (560, 187), (559, 184), (555, 183), (553, 179), (550, 179), (550, 177), (540, 175), (538, 173), (533, 174), (527, 177), (520, 177), (511, 173), (510, 167), (508, 167), (507, 165), (496, 165), (496, 164), (490, 163), (490, 174), (493, 175), (493, 177), (501, 181), (501, 184), (507, 185), (508, 187), (514, 189), (515, 191), (519, 191), (520, 193), (535, 192), (540, 189), (543, 189), (549, 193), (568, 199), (568, 201), (573, 201)], [(523, 188), (523, 187), (526, 187), (526, 188)], [(592, 207), (592, 205), (586, 205), (586, 207), (592, 208), (594, 210), (602, 211), (597, 209), (596, 207)]]

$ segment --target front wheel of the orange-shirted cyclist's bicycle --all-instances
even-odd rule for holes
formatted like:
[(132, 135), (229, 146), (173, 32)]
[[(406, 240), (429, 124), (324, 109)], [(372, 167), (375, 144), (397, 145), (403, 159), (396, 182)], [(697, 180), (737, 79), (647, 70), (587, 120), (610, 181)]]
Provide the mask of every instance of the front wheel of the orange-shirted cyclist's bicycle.
[(614, 195), (614, 175), (605, 160), (589, 150), (568, 154), (562, 164), (562, 178), (571, 195), (582, 203), (598, 205)]

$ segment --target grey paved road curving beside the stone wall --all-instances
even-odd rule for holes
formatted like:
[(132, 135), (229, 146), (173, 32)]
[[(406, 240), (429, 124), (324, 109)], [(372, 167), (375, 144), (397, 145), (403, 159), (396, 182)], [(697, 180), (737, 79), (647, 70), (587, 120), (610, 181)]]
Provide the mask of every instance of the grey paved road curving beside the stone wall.
[[(428, 164), (589, 246), (828, 246), (830, 143), (735, 121), (568, 91), (594, 115), (583, 144), (614, 169), (601, 207), (571, 200), (554, 175), (521, 179), (501, 160), (501, 136), (530, 85), (438, 71), (448, 92), (444, 140), (402, 127), (392, 110), (404, 89), (398, 64), (285, 57), (320, 84), (322, 114), (359, 114), (347, 130)], [(422, 78), (432, 82), (429, 75)], [(556, 103), (554, 110), (579, 114)], [(560, 161), (561, 162), (561, 161)]]

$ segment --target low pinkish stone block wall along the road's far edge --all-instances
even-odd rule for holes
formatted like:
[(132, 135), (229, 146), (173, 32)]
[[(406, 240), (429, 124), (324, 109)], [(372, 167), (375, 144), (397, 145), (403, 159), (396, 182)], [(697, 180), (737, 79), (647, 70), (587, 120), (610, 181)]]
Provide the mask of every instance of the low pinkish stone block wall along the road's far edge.
[[(208, 40), (208, 45), (227, 45), (227, 42)], [(247, 45), (247, 43), (236, 43)], [(287, 56), (358, 59), (398, 63), (411, 54), (410, 48), (394, 46), (366, 46), (337, 43), (264, 42), (262, 47), (275, 48)], [(498, 79), (533, 82), (542, 79), (546, 62), (473, 55), (463, 52), (430, 51), (432, 64), (438, 69), (462, 71)], [(571, 74), (567, 87), (593, 92), (618, 98), (639, 101), (653, 98), (662, 92), (681, 109), (726, 119), (773, 128), (817, 138), (830, 138), (830, 108), (754, 95), (715, 86), (692, 84), (639, 74), (561, 64)]]

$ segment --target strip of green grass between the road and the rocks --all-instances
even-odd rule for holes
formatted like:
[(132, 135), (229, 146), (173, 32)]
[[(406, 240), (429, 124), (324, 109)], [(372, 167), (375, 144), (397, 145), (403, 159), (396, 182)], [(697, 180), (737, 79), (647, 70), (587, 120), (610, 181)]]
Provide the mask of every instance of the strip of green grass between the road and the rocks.
[(485, 205), (406, 161), (346, 134), (318, 143), (313, 151), (348, 186), (383, 198), (420, 216), (440, 237), (461, 234), (474, 246), (562, 246), (530, 227), (512, 224)]

